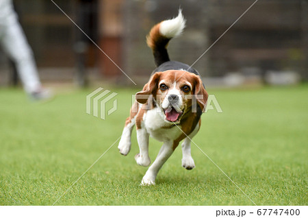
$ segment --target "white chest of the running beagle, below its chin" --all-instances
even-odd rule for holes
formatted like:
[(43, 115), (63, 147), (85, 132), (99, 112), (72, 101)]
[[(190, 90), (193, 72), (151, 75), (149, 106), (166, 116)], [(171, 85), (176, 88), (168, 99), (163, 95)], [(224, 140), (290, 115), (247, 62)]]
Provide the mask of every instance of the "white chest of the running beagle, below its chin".
[(174, 141), (182, 133), (175, 125), (168, 128), (170, 124), (166, 123), (164, 115), (162, 112), (158, 112), (156, 108), (148, 110), (143, 118), (146, 131), (157, 141)]

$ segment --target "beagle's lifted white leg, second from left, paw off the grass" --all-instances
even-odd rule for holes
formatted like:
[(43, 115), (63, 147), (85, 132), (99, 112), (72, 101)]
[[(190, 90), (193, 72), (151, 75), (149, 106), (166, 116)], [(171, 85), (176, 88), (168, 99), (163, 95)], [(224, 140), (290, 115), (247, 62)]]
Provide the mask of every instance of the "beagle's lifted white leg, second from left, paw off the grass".
[(149, 156), (149, 133), (146, 132), (145, 128), (140, 128), (136, 132), (140, 153), (136, 154), (135, 159), (138, 165), (147, 167), (151, 163)]

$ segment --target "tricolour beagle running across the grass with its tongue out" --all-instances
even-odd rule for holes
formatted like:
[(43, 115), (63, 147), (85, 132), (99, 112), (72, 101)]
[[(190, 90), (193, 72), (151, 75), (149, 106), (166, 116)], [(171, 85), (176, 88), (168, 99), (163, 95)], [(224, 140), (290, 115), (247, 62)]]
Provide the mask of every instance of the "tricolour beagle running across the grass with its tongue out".
[(147, 167), (151, 163), (149, 136), (164, 143), (141, 185), (155, 184), (159, 169), (182, 140), (182, 166), (185, 169), (195, 167), (190, 141), (200, 128), (208, 94), (198, 72), (188, 64), (170, 61), (166, 49), (170, 39), (179, 36), (184, 27), (185, 19), (179, 10), (176, 18), (158, 23), (146, 38), (157, 68), (142, 91), (136, 93), (136, 101), (118, 144), (120, 154), (126, 156), (131, 149), (131, 132), (136, 125), (140, 153), (135, 159), (138, 165)]

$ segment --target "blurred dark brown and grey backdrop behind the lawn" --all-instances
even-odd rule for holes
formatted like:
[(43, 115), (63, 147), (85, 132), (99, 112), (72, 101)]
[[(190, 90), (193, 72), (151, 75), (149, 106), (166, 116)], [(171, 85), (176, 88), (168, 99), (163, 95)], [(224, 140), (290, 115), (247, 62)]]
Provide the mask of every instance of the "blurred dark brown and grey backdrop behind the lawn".
[[(55, 1), (81, 29), (142, 86), (155, 64), (145, 37), (151, 27), (177, 16), (183, 35), (170, 42), (171, 60), (194, 63), (253, 3), (252, 0), (67, 0)], [(49, 0), (14, 0), (19, 21), (43, 83), (87, 86), (131, 81)], [(207, 86), (298, 84), (308, 79), (308, 3), (258, 1), (194, 64)], [(18, 75), (0, 50), (0, 86)]]

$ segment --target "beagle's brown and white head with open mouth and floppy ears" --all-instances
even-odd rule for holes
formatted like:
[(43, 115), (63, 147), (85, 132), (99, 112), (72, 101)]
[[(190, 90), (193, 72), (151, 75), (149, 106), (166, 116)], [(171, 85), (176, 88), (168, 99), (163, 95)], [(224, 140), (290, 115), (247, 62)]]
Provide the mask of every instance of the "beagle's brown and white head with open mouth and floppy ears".
[(136, 101), (146, 104), (153, 101), (164, 112), (167, 122), (179, 123), (185, 112), (192, 109), (194, 102), (205, 108), (207, 91), (198, 75), (187, 71), (164, 71), (155, 73), (143, 90), (136, 94)]

